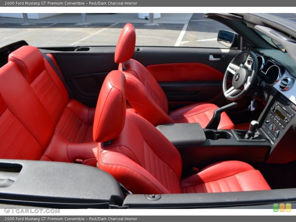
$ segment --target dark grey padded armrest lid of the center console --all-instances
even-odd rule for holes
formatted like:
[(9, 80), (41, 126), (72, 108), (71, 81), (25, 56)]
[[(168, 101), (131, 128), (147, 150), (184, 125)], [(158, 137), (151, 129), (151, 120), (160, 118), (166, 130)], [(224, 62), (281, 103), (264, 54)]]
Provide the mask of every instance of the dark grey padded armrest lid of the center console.
[(201, 145), (206, 136), (199, 123), (173, 123), (156, 127), (175, 146)]

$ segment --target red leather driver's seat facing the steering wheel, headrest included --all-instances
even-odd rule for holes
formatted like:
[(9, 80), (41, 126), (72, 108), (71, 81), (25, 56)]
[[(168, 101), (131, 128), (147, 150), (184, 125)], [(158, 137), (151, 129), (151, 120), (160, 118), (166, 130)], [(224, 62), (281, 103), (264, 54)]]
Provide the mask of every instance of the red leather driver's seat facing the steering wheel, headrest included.
[[(153, 125), (198, 122), (205, 128), (218, 107), (210, 103), (196, 103), (168, 114), (166, 94), (152, 74), (141, 63), (132, 59), (135, 43), (135, 28), (128, 23), (119, 36), (114, 59), (119, 64), (118, 69), (123, 71), (126, 77), (126, 98), (130, 105)], [(226, 113), (221, 114), (218, 129), (234, 129)]]

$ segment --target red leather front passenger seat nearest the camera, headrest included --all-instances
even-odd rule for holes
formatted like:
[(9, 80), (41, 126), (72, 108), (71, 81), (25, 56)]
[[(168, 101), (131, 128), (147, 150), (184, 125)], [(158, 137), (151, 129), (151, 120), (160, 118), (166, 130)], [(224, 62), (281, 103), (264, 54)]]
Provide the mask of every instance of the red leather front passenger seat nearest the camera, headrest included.
[(151, 123), (126, 111), (126, 80), (110, 72), (101, 88), (93, 138), (98, 167), (134, 194), (269, 190), (261, 173), (240, 161), (214, 163), (181, 179), (182, 159), (173, 144)]

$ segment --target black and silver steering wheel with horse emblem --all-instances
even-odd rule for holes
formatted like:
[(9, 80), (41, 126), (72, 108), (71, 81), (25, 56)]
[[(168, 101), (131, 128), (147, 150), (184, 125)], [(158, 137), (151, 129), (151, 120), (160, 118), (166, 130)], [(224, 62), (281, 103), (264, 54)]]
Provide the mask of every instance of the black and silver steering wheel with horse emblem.
[[(229, 63), (223, 78), (223, 93), (230, 100), (235, 101), (245, 96), (251, 85), (257, 79), (258, 60), (254, 52), (242, 51)], [(227, 89), (227, 79), (231, 79)]]

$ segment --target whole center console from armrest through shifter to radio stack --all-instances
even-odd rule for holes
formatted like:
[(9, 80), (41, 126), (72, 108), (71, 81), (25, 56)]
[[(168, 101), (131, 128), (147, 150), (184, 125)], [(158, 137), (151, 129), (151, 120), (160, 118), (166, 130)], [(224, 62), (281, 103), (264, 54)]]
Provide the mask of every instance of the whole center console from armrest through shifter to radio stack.
[(258, 121), (251, 121), (249, 130), (215, 130), (208, 126), (202, 129), (198, 123), (160, 125), (157, 129), (179, 150), (185, 170), (225, 160), (293, 161), (296, 105), (281, 93), (270, 95)]

